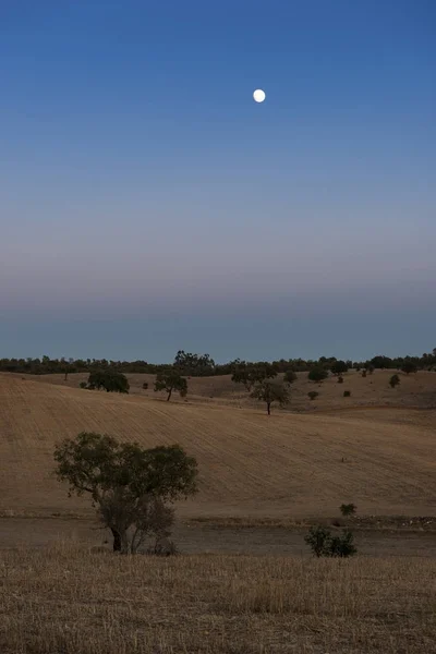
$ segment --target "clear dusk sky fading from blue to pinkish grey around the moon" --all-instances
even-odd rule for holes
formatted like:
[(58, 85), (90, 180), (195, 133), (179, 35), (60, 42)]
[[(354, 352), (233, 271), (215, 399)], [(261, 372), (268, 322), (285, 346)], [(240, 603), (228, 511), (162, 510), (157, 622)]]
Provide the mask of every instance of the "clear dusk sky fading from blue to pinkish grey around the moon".
[(0, 358), (431, 351), (435, 82), (433, 0), (1, 0)]

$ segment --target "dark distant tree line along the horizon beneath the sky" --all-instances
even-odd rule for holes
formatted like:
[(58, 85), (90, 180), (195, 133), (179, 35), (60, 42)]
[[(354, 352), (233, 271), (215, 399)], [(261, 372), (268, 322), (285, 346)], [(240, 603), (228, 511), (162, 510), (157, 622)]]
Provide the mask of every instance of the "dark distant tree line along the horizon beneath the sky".
[[(65, 375), (70, 373), (93, 373), (96, 371), (114, 371), (119, 373), (147, 373), (152, 375), (166, 374), (168, 368), (173, 368), (179, 375), (187, 377), (210, 377), (218, 375), (233, 375), (235, 371), (253, 371), (253, 383), (256, 383), (256, 372), (262, 368), (277, 374), (289, 370), (294, 373), (316, 371), (314, 375), (322, 376), (320, 371), (330, 371), (334, 375), (355, 368), (358, 371), (374, 371), (374, 368), (402, 370), (410, 372), (416, 370), (436, 370), (436, 348), (431, 353), (421, 356), (397, 356), (390, 359), (378, 354), (367, 361), (341, 361), (335, 356), (320, 356), (318, 360), (304, 359), (280, 359), (279, 361), (247, 362), (235, 359), (225, 364), (216, 364), (209, 354), (193, 354), (179, 350), (172, 364), (153, 364), (146, 361), (112, 361), (107, 359), (50, 359), (45, 355), (41, 359), (0, 359), (0, 372), (27, 373), (32, 375), (48, 375), (52, 373)], [(405, 372), (405, 371), (404, 371)]]

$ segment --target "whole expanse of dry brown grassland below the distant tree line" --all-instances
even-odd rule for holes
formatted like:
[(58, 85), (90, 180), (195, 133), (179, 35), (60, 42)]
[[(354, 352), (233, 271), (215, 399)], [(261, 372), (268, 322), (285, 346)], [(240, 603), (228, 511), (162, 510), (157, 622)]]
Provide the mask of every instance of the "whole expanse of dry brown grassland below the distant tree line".
[[(388, 377), (300, 375), (289, 410), (268, 417), (228, 377), (191, 379), (186, 401), (166, 402), (142, 390), (152, 376), (118, 396), (77, 388), (86, 375), (0, 374), (0, 651), (436, 653), (434, 524), (393, 518), (436, 514), (436, 374), (396, 390)], [(88, 501), (51, 474), (55, 443), (81, 431), (197, 458), (181, 556), (95, 550), (106, 536)], [(306, 525), (342, 501), (362, 516), (359, 555), (312, 558)]]

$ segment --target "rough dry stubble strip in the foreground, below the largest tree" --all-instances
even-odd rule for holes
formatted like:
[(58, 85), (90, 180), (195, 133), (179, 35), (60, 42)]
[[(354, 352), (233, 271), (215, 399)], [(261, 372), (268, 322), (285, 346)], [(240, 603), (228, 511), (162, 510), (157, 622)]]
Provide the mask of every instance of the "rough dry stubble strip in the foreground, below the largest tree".
[(436, 562), (0, 553), (3, 654), (432, 654)]

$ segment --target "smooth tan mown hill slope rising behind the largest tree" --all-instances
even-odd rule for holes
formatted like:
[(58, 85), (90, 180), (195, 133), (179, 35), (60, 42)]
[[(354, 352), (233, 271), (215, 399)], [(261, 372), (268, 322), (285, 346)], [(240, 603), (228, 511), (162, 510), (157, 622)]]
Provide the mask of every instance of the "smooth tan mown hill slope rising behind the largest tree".
[(268, 419), (262, 409), (173, 404), (2, 374), (0, 509), (87, 507), (86, 500), (69, 499), (50, 476), (52, 450), (64, 436), (97, 431), (149, 447), (177, 441), (194, 455), (202, 491), (180, 507), (184, 514), (332, 514), (342, 501), (362, 512), (434, 514), (432, 417), (421, 414), (414, 424), (407, 410), (392, 421), (378, 420), (376, 411), (358, 413)]

